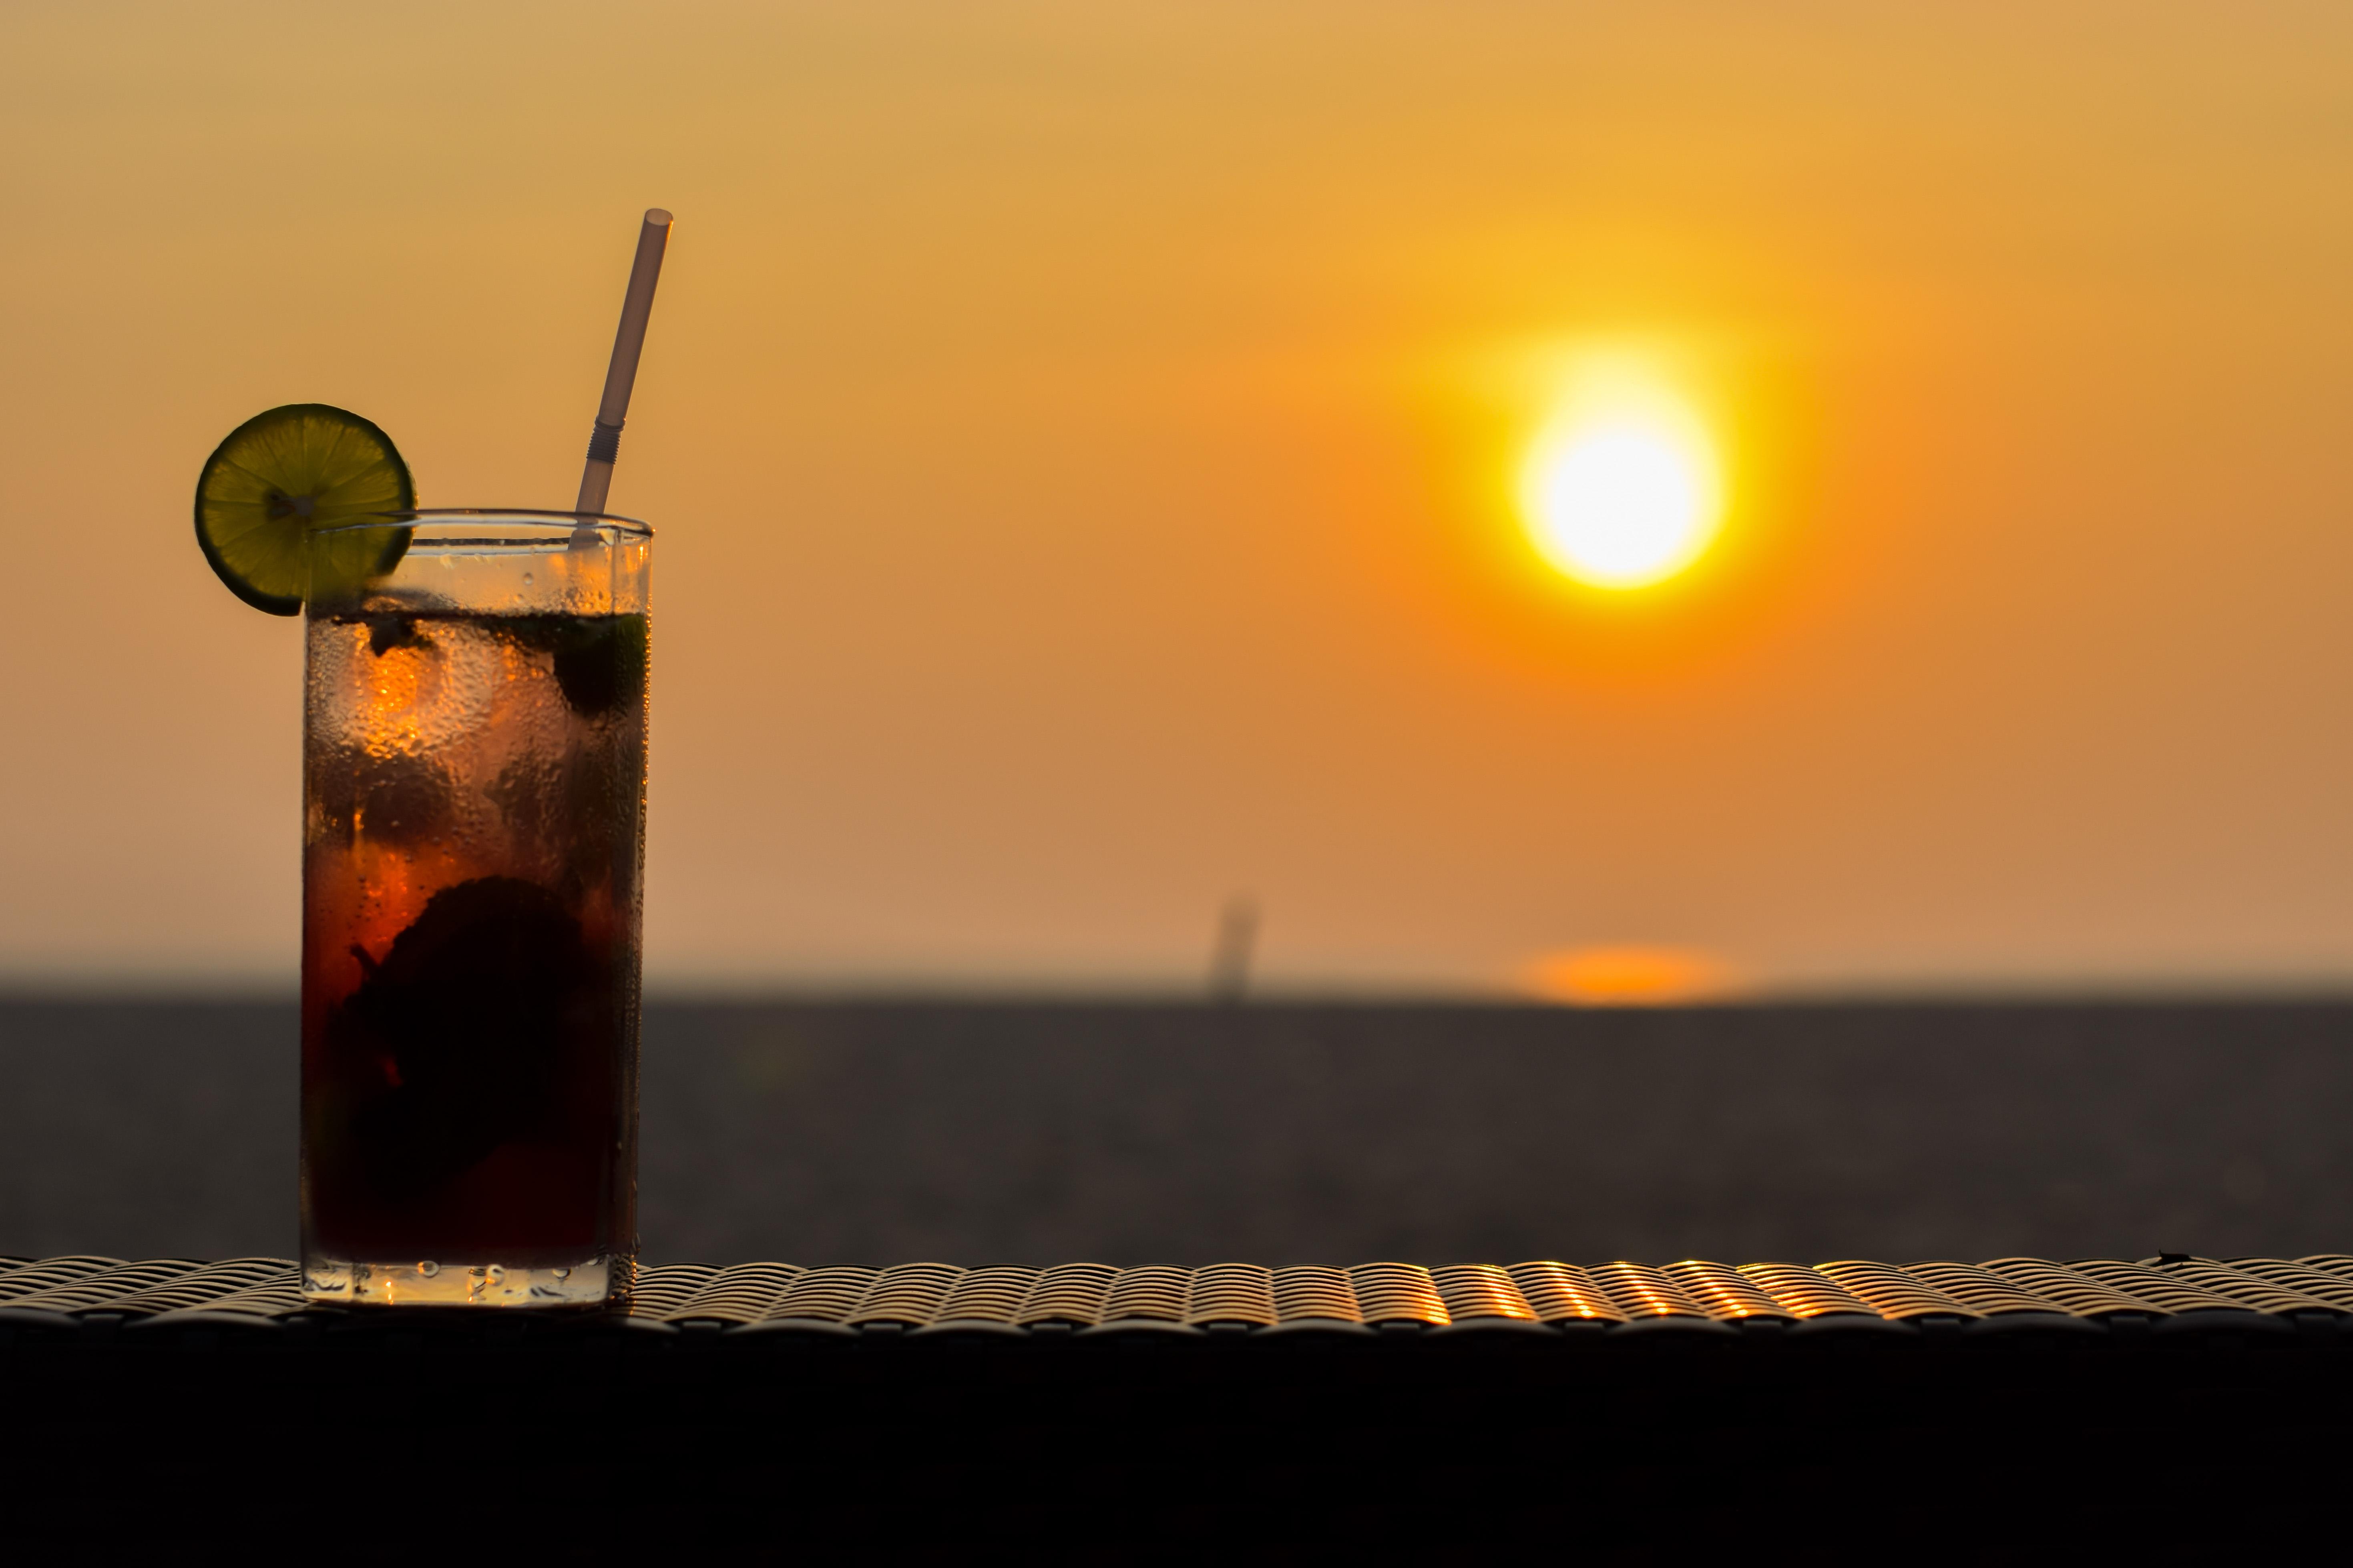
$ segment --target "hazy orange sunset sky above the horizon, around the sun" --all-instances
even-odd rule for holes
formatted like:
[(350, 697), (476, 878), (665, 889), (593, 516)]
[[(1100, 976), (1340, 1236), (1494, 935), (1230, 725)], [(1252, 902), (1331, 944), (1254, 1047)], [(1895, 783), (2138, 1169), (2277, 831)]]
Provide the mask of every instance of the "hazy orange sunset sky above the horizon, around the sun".
[[(14, 5), (0, 976), (289, 983), (299, 630), (188, 491), (565, 503), (678, 212), (649, 980), (2353, 976), (2341, 5)], [(1671, 364), (1725, 545), (1508, 515)]]

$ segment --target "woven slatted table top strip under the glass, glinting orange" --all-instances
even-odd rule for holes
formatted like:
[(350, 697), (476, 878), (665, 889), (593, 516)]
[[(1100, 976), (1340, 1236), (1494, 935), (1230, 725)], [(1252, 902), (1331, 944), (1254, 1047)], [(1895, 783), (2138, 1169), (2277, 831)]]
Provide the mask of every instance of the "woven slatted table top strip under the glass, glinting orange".
[[(355, 1316), (369, 1316), (367, 1309)], [(308, 1307), (285, 1258), (0, 1258), (0, 1331), (240, 1326), (344, 1316)], [(461, 1314), (499, 1316), (499, 1314)], [(2353, 1255), (2137, 1262), (1365, 1262), (1047, 1269), (908, 1262), (652, 1265), (628, 1328), (812, 1333), (2353, 1333)]]

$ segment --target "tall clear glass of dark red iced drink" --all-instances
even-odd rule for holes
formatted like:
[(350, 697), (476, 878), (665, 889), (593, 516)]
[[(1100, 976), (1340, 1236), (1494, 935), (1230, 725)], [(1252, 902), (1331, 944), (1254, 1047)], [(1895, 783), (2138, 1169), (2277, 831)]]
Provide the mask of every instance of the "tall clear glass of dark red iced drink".
[[(626, 1302), (652, 529), (336, 536), (304, 661), (304, 1295)], [(322, 581), (355, 555), (374, 576)]]

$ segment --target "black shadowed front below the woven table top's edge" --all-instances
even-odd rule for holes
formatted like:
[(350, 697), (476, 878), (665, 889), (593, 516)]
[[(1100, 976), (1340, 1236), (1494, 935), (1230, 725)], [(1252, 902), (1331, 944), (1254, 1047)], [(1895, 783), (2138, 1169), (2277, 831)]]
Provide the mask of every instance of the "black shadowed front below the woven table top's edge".
[[(0, 1345), (9, 1540), (748, 1561), (2249, 1561), (2353, 1460), (2334, 1340), (647, 1335)], [(266, 1542), (266, 1547), (264, 1547)], [(1414, 1556), (1405, 1556), (1405, 1547)], [(2313, 1561), (2327, 1561), (2322, 1549)]]

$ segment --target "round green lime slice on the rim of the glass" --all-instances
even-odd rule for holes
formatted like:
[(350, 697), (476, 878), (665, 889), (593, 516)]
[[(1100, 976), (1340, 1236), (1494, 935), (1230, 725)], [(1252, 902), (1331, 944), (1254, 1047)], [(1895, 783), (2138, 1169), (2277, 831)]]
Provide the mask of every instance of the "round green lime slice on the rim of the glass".
[(228, 590), (273, 616), (355, 592), (409, 548), (400, 527), (313, 541), (318, 529), (416, 508), (393, 437), (325, 402), (289, 402), (228, 433), (195, 482), (195, 543)]

